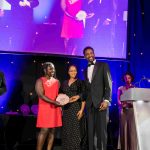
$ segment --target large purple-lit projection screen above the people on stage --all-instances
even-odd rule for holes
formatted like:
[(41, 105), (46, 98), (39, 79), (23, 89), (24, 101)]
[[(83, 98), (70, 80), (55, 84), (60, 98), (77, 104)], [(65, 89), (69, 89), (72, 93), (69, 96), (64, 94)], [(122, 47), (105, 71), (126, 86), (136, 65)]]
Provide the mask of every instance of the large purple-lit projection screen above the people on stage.
[(98, 57), (126, 58), (128, 0), (72, 0), (66, 13), (60, 0), (32, 1), (1, 1), (1, 51), (83, 56), (90, 45)]

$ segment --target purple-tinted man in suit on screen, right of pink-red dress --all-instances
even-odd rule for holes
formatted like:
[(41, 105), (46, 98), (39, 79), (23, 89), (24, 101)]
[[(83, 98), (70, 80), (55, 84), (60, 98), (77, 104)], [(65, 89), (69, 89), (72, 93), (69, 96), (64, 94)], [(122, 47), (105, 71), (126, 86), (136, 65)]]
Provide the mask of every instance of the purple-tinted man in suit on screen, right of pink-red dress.
[(102, 57), (112, 55), (112, 23), (113, 23), (113, 0), (88, 0), (84, 6), (87, 12), (85, 26), (85, 40), (91, 43), (96, 52)]

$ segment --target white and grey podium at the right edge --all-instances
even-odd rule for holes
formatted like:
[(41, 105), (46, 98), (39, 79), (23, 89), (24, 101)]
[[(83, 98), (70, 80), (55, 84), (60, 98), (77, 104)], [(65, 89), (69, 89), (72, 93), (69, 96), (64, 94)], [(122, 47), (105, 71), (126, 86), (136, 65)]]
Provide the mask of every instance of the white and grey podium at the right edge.
[(130, 88), (121, 101), (133, 101), (138, 150), (150, 150), (150, 89)]

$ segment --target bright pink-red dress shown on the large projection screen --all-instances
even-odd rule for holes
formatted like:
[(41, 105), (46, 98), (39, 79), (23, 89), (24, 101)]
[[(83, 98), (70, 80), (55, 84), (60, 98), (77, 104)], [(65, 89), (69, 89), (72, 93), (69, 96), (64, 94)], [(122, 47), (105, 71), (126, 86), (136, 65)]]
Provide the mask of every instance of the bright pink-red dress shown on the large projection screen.
[(82, 0), (66, 0), (66, 12), (74, 18), (64, 14), (61, 37), (64, 38), (82, 38), (83, 21), (75, 20), (78, 11), (81, 10)]

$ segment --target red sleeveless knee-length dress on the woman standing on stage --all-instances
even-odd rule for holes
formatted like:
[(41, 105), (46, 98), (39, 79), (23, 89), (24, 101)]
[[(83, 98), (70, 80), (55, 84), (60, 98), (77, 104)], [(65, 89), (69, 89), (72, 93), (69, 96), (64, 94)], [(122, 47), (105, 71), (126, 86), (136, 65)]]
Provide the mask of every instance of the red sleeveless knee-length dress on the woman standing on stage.
[[(55, 101), (58, 95), (59, 81), (55, 78), (48, 80), (45, 77), (42, 77), (41, 80), (45, 96)], [(36, 126), (40, 128), (54, 128), (62, 126), (61, 108), (39, 98)]]

